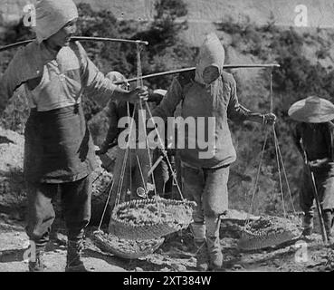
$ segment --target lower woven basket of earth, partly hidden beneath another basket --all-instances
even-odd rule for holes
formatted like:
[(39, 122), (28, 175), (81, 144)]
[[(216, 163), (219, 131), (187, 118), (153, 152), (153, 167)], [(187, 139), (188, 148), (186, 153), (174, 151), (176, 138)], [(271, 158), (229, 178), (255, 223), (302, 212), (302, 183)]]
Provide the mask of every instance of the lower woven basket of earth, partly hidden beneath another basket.
[(101, 231), (92, 234), (92, 241), (101, 251), (126, 259), (151, 255), (163, 244), (164, 240), (165, 238), (162, 237), (153, 240), (129, 241), (104, 234)]

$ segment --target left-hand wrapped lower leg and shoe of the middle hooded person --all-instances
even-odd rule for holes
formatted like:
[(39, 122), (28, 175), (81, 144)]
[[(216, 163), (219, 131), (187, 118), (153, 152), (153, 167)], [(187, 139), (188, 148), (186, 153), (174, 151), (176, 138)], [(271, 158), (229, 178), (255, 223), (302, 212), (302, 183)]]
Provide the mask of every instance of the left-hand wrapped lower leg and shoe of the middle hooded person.
[(207, 271), (209, 259), (205, 239), (205, 224), (193, 223), (191, 225), (191, 230), (193, 232), (196, 249), (196, 269), (198, 271)]

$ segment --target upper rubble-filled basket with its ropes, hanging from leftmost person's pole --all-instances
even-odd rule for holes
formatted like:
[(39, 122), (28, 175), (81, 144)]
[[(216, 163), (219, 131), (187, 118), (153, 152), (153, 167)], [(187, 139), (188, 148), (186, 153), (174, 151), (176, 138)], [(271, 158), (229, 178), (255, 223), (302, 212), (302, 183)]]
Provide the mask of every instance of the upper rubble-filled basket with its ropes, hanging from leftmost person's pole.
[[(137, 44), (138, 87), (143, 86), (141, 58), (140, 58), (141, 50), (142, 46), (140, 45), (140, 43), (138, 43)], [(144, 110), (144, 105), (145, 105), (145, 110)], [(144, 111), (148, 112), (148, 117), (153, 122), (154, 131), (157, 134), (159, 147), (161, 148), (161, 151), (167, 160), (167, 166), (172, 172), (173, 179), (177, 184), (177, 176), (167, 157), (167, 150), (165, 148), (164, 142), (161, 139), (159, 132), (157, 131), (157, 126), (156, 126), (157, 124), (153, 119), (152, 112), (150, 111), (150, 108), (148, 106), (148, 102), (145, 101), (144, 105), (143, 101), (139, 102), (139, 109), (140, 109), (139, 119), (141, 118), (142, 123), (145, 125), (146, 120), (144, 116)], [(132, 130), (130, 129), (129, 134), (131, 133)], [(144, 138), (145, 138), (145, 148), (148, 154), (148, 164), (149, 167), (152, 168), (152, 158), (150, 154), (148, 135), (146, 130), (144, 130)], [(131, 138), (129, 136), (129, 140), (130, 139)], [(126, 155), (126, 157), (124, 158), (123, 165), (126, 164), (127, 159), (128, 156)], [(148, 240), (148, 239), (161, 238), (167, 236), (168, 234), (177, 232), (181, 229), (188, 227), (192, 221), (192, 212), (196, 206), (196, 203), (188, 201), (183, 197), (181, 189), (179, 188), (178, 184), (177, 184), (177, 190), (181, 197), (181, 200), (160, 198), (157, 194), (157, 187), (154, 174), (151, 175), (154, 186), (154, 197), (148, 198), (148, 189), (146, 186), (142, 167), (138, 159), (137, 153), (136, 153), (136, 160), (138, 162), (139, 173), (143, 181), (143, 187), (146, 192), (145, 195), (146, 198), (134, 199), (123, 203), (119, 203), (119, 198), (117, 198), (115, 208), (113, 209), (110, 218), (110, 233), (124, 239)], [(121, 172), (121, 178), (120, 178), (121, 182), (123, 178), (124, 178), (124, 170), (122, 170)], [(119, 187), (117, 193), (118, 197), (121, 194), (120, 189), (121, 186)]]

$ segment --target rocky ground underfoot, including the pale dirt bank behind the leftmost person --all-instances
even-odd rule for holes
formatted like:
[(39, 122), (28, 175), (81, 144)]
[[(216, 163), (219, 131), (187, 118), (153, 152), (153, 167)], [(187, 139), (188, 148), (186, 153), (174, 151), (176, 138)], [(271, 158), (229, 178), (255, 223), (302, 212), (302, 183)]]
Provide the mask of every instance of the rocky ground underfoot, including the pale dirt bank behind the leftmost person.
[[(22, 135), (0, 128), (0, 272), (27, 271), (28, 238), (24, 232), (25, 191), (22, 176), (24, 139)], [(101, 162), (112, 163), (111, 160)], [(111, 161), (111, 162), (110, 162)], [(103, 252), (91, 239), (100, 221), (105, 195), (101, 194), (112, 175), (103, 169), (94, 172), (93, 217), (87, 229), (83, 260), (95, 272), (180, 272), (196, 271), (195, 248), (189, 229), (165, 237), (164, 243), (151, 255), (125, 259)], [(56, 206), (57, 208), (57, 206)], [(58, 208), (59, 209), (59, 208)], [(108, 225), (110, 212), (105, 218)], [(248, 215), (230, 210), (222, 218), (221, 245), (224, 271), (318, 272), (333, 269), (334, 252), (322, 245), (319, 234), (309, 240), (294, 240), (281, 247), (243, 251), (237, 247)], [(255, 218), (255, 217), (252, 217)], [(300, 219), (294, 221), (300, 224)], [(62, 272), (66, 261), (66, 232), (60, 210), (52, 230), (52, 241), (45, 255), (46, 270)]]

